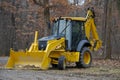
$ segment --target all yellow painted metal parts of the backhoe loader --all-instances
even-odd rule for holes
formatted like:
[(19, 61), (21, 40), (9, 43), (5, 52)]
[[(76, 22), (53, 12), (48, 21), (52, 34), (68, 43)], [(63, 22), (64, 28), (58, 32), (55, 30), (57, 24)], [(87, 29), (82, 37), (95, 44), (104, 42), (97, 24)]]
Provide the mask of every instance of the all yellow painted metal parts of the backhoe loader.
[[(63, 19), (85, 21), (85, 33), (88, 40), (91, 42), (92, 47), (97, 41), (95, 49), (98, 50), (102, 46), (102, 41), (99, 39), (94, 19), (91, 17), (93, 14), (88, 10), (88, 14), (83, 17), (61, 17)], [(90, 32), (93, 34), (93, 39), (90, 40)], [(65, 38), (49, 40), (45, 50), (38, 49), (38, 32), (35, 32), (34, 42), (31, 44), (29, 50), (14, 51), (10, 50), (10, 57), (6, 64), (6, 68), (32, 68), (32, 69), (48, 69), (50, 64), (58, 64), (55, 58), (65, 56), (66, 62), (79, 62), (80, 52), (70, 52), (65, 50)], [(91, 48), (92, 50), (92, 48)], [(90, 54), (85, 53), (84, 62), (90, 62)]]

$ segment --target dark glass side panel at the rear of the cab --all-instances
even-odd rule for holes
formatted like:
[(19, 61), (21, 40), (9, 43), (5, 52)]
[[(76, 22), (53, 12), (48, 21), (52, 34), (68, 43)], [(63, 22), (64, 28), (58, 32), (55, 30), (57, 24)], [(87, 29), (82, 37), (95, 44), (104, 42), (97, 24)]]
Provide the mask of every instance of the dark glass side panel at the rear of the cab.
[(83, 21), (72, 21), (72, 39), (71, 48), (76, 51), (78, 43), (85, 39), (85, 29)]

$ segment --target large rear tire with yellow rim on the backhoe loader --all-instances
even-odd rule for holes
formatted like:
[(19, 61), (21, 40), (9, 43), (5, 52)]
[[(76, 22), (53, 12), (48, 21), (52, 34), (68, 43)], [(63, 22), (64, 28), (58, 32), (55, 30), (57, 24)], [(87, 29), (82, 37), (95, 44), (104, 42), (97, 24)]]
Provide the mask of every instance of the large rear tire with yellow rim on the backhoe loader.
[(89, 48), (84, 47), (80, 53), (79, 62), (76, 63), (78, 68), (88, 68), (92, 63), (92, 55)]

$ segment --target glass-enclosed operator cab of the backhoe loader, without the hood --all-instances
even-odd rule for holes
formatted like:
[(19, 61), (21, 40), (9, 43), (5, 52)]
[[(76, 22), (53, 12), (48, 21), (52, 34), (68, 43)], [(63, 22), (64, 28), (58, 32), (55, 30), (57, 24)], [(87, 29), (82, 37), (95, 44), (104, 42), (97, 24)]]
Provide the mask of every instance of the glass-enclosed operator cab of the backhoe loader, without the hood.
[(54, 20), (52, 35), (65, 37), (66, 50), (76, 51), (79, 42), (86, 39), (84, 22), (62, 18)]

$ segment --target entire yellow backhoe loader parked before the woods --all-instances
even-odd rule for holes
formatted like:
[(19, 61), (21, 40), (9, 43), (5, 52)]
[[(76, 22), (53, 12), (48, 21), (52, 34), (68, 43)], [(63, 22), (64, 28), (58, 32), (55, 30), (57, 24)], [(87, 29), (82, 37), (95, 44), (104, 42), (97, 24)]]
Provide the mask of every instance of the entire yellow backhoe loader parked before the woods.
[(7, 69), (29, 67), (46, 70), (51, 65), (63, 70), (68, 62), (76, 63), (78, 68), (91, 66), (91, 52), (102, 46), (93, 10), (88, 9), (86, 17), (59, 17), (52, 22), (51, 36), (38, 39), (36, 31), (29, 50), (10, 50)]

